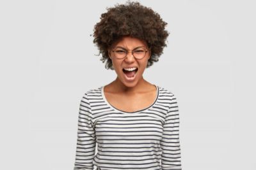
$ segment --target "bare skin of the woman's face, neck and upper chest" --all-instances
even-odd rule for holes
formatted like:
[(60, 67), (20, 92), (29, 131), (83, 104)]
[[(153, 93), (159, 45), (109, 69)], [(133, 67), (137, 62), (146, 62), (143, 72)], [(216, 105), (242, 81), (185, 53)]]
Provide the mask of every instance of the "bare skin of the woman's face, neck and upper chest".
[[(156, 87), (143, 78), (148, 59), (150, 59), (150, 51), (140, 60), (135, 59), (131, 51), (124, 59), (116, 59), (112, 52), (112, 48), (115, 46), (132, 50), (138, 46), (147, 48), (147, 43), (138, 38), (124, 36), (109, 48), (109, 58), (112, 60), (117, 76), (114, 81), (104, 87), (104, 94), (108, 98), (108, 102), (120, 110), (137, 111), (146, 108), (154, 102), (156, 97)], [(136, 78), (133, 81), (127, 81), (122, 71), (123, 67), (130, 66), (138, 67)]]

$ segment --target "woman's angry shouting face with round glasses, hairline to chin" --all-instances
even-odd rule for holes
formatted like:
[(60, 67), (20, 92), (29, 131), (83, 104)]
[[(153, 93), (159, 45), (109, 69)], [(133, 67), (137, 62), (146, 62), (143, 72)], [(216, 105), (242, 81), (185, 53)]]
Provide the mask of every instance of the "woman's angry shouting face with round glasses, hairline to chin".
[[(113, 52), (113, 50), (115, 52)], [(145, 57), (136, 59), (132, 55), (140, 55), (143, 50), (146, 50)], [(118, 53), (127, 52), (124, 59), (116, 58)], [(115, 43), (112, 48), (109, 48), (109, 57), (112, 60), (113, 68), (118, 76), (118, 79), (127, 87), (134, 87), (140, 80), (143, 79), (143, 72), (147, 67), (148, 59), (150, 59), (150, 50), (148, 50), (147, 43), (138, 38), (131, 38), (124, 36), (120, 41)], [(138, 68), (138, 71), (127, 72), (124, 68)], [(134, 74), (135, 73), (135, 74)], [(132, 76), (134, 75), (134, 76)]]

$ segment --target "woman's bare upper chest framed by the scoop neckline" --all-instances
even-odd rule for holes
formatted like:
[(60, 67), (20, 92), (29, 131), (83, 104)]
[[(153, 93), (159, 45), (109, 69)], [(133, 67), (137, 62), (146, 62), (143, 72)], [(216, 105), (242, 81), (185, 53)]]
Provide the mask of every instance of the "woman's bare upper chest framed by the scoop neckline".
[(108, 87), (104, 88), (104, 95), (108, 103), (118, 110), (127, 112), (143, 110), (153, 104), (157, 97), (156, 92), (157, 89), (155, 85), (150, 86), (150, 88), (144, 92), (131, 95), (111, 92), (111, 90), (108, 90)]

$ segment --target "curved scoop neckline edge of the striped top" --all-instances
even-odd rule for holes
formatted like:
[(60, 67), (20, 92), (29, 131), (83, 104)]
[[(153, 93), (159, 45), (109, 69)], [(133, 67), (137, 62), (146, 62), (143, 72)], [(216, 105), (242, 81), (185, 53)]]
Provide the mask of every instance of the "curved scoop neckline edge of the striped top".
[(152, 106), (154, 106), (154, 104), (156, 103), (156, 101), (157, 101), (157, 99), (158, 99), (158, 96), (159, 96), (159, 87), (158, 87), (157, 85), (154, 85), (154, 86), (156, 86), (156, 97), (155, 97), (154, 102), (153, 102), (152, 104), (150, 104), (149, 106), (147, 106), (147, 108), (144, 108), (144, 109), (138, 110), (138, 111), (132, 111), (132, 112), (123, 111), (123, 110), (119, 110), (118, 108), (115, 108), (115, 106), (112, 106), (110, 103), (108, 103), (108, 101), (107, 101), (107, 99), (106, 99), (106, 97), (105, 97), (105, 94), (104, 94), (104, 87), (105, 87), (105, 86), (106, 86), (106, 85), (104, 85), (104, 86), (101, 87), (101, 96), (102, 96), (104, 102), (105, 102), (110, 108), (112, 108), (113, 110), (115, 110), (115, 111), (117, 111), (117, 112), (119, 112), (119, 113), (121, 112), (121, 113), (133, 114), (133, 113), (140, 113), (141, 111), (146, 111), (146, 110), (152, 108)]

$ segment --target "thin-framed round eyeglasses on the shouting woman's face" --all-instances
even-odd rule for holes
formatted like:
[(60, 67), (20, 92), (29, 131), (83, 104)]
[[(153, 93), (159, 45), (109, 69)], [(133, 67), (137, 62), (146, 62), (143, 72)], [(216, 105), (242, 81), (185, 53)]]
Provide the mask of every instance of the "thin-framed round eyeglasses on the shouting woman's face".
[[(115, 57), (117, 59), (124, 59), (127, 56), (129, 50), (126, 50), (125, 48), (122, 47), (116, 47), (115, 50), (112, 50), (112, 52), (114, 52)], [(132, 50), (132, 55), (133, 57), (135, 57), (138, 60), (141, 60), (145, 57), (146, 53), (148, 52), (148, 50), (144, 47), (137, 47), (134, 48), (134, 50)]]

